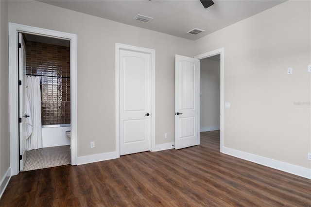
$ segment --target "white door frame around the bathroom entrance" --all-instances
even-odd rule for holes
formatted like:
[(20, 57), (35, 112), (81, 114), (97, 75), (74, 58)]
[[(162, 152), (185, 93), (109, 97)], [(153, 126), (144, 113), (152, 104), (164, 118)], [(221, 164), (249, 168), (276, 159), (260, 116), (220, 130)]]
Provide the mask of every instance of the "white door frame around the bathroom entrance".
[(45, 35), (70, 40), (70, 126), (71, 165), (77, 164), (77, 38), (63, 33), (9, 22), (9, 104), (10, 104), (10, 167), (11, 175), (19, 173), (18, 150), (18, 33)]

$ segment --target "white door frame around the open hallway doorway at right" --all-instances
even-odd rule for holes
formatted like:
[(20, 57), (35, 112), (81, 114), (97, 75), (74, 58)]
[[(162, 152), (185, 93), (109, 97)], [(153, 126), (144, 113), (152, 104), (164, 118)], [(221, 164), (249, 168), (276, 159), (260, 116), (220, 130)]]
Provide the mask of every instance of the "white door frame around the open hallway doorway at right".
[[(223, 153), (224, 151), (224, 86), (225, 86), (225, 68), (224, 68), (224, 63), (225, 63), (225, 56), (224, 56), (224, 48), (220, 48), (214, 51), (210, 52), (205, 52), (203, 54), (199, 54), (194, 56), (194, 58), (197, 58), (199, 60), (214, 56), (220, 54), (220, 152)], [(200, 71), (200, 62), (199, 62), (199, 71)], [(200, 78), (199, 78), (199, 91), (200, 91)], [(200, 102), (200, 96), (198, 96), (198, 103)], [(200, 120), (200, 107), (199, 107), (199, 120)], [(198, 129), (199, 134), (200, 134), (200, 123), (198, 124)], [(200, 136), (199, 136), (200, 137)], [(199, 138), (200, 141), (200, 138)], [(198, 142), (200, 143), (200, 142)]]

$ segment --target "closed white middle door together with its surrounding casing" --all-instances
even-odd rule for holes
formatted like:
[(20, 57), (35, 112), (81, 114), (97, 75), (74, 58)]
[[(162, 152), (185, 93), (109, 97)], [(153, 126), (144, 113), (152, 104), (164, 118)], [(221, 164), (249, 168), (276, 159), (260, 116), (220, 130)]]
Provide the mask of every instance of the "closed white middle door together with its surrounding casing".
[[(153, 151), (155, 50), (116, 43), (115, 86), (117, 157)], [(145, 116), (147, 113), (149, 116)]]

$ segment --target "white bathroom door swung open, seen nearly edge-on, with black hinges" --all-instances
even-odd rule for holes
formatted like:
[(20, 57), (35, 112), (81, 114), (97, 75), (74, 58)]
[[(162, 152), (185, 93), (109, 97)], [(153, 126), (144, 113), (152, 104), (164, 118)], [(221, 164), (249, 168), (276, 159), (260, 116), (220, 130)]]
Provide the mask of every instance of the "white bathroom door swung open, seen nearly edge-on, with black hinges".
[[(26, 162), (26, 46), (23, 35), (18, 33), (18, 77), (19, 85), (19, 170), (22, 171)], [(22, 156), (20, 156), (22, 155)]]

